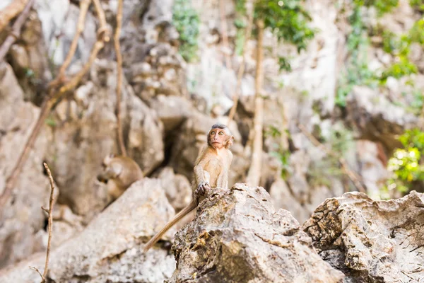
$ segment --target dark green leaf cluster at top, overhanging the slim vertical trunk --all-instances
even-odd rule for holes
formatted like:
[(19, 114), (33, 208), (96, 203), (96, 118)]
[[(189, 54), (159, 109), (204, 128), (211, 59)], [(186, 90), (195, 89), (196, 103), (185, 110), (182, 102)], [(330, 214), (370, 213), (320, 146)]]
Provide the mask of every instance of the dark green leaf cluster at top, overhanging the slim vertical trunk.
[(302, 0), (257, 0), (254, 18), (264, 20), (266, 28), (276, 34), (278, 40), (295, 45), (298, 52), (305, 50), (314, 38), (316, 30), (310, 28), (311, 17), (303, 8)]

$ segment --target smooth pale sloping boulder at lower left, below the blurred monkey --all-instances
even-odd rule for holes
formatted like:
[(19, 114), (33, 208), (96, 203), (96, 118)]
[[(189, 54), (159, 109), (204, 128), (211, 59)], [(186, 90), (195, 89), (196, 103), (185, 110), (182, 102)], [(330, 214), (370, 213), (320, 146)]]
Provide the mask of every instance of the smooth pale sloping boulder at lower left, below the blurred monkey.
[[(175, 260), (166, 250), (144, 254), (142, 248), (173, 214), (160, 180), (137, 181), (78, 236), (52, 251), (47, 279), (69, 283), (163, 282), (172, 275)], [(0, 282), (40, 282), (40, 275), (28, 266), (43, 270), (44, 261), (42, 253), (1, 270)]]

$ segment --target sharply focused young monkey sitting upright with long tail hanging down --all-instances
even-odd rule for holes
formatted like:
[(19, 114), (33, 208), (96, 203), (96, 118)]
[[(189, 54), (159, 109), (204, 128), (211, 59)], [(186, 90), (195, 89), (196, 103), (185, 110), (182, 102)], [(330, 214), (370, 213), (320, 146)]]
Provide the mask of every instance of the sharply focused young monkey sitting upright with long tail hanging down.
[(146, 243), (143, 250), (147, 252), (163, 234), (168, 231), (179, 219), (186, 216), (197, 207), (199, 202), (204, 199), (207, 190), (214, 187), (228, 189), (228, 171), (232, 161), (232, 137), (230, 129), (222, 124), (216, 124), (208, 132), (208, 144), (201, 150), (194, 163), (194, 182), (192, 183), (193, 197), (192, 202), (174, 216), (163, 229), (160, 229), (153, 238)]

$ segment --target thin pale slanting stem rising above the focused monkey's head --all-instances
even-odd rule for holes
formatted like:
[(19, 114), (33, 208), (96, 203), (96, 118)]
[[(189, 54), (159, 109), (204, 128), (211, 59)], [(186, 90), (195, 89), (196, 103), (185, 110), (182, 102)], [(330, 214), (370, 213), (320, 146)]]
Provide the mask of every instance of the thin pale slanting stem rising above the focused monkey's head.
[(232, 121), (232, 119), (234, 119), (235, 111), (237, 110), (238, 99), (240, 96), (240, 88), (242, 86), (242, 78), (243, 78), (243, 74), (245, 74), (247, 43), (249, 42), (250, 35), (252, 34), (252, 26), (253, 26), (253, 8), (254, 8), (254, 1), (248, 1), (246, 3), (247, 27), (245, 30), (245, 42), (243, 42), (242, 62), (240, 63), (240, 67), (237, 72), (237, 83), (235, 86), (234, 94), (232, 95), (232, 108), (230, 110), (230, 114), (228, 115), (228, 122), (227, 122), (228, 125), (230, 125), (230, 122)]

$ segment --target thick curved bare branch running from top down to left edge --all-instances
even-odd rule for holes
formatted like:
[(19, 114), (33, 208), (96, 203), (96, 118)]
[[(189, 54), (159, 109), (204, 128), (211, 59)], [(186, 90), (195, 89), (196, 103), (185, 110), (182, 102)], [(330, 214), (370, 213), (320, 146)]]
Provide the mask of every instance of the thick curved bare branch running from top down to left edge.
[[(95, 42), (95, 45), (93, 46), (93, 49), (91, 50), (88, 62), (84, 64), (83, 68), (80, 71), (78, 71), (78, 73), (75, 76), (73, 76), (71, 80), (69, 80), (64, 86), (61, 86), (59, 88), (59, 91), (57, 91), (57, 88), (55, 88), (55, 86), (51, 84), (51, 87), (49, 88), (49, 95), (46, 97), (45, 101), (42, 103), (40, 115), (38, 116), (37, 122), (35, 123), (35, 126), (30, 134), (30, 137), (28, 138), (23, 148), (22, 154), (20, 154), (18, 158), (18, 162), (16, 163), (16, 166), (13, 168), (11, 176), (7, 180), (4, 192), (0, 196), (0, 207), (5, 207), (8, 197), (11, 195), (13, 187), (15, 187), (16, 185), (18, 175), (20, 174), (20, 171), (22, 171), (22, 168), (28, 159), (30, 150), (34, 146), (35, 140), (37, 139), (37, 136), (40, 133), (40, 129), (42, 125), (44, 124), (45, 119), (47, 118), (47, 115), (49, 115), (50, 110), (52, 109), (54, 104), (57, 102), (57, 100), (59, 100), (59, 98), (64, 96), (66, 92), (71, 91), (73, 88), (75, 88), (78, 85), (78, 83), (81, 81), (83, 76), (90, 69), (91, 64), (93, 64), (95, 58), (98, 55), (98, 52), (100, 52), (100, 50), (102, 50), (102, 48), (105, 46), (105, 42), (108, 42), (110, 40), (109, 33), (108, 33), (109, 30), (107, 29), (107, 24), (105, 20), (105, 12), (103, 11), (99, 0), (93, 0), (93, 1), (95, 4), (95, 9), (98, 13), (100, 27), (98, 28), (97, 41)], [(78, 19), (78, 25), (81, 25), (81, 24), (83, 25), (84, 18), (80, 17)], [(78, 37), (78, 36), (79, 36), (78, 33), (74, 35), (74, 37)]]

